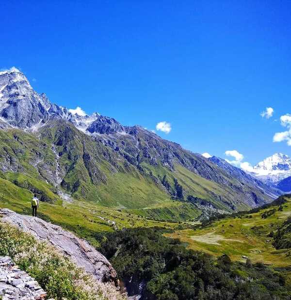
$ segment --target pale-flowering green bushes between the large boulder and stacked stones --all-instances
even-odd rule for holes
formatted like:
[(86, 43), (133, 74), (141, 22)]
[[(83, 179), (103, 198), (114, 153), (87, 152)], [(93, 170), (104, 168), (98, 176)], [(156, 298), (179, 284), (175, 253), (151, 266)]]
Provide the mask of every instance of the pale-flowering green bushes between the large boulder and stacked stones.
[(110, 284), (97, 282), (46, 242), (36, 240), (13, 225), (0, 223), (0, 255), (10, 256), (48, 293), (67, 300), (123, 300)]

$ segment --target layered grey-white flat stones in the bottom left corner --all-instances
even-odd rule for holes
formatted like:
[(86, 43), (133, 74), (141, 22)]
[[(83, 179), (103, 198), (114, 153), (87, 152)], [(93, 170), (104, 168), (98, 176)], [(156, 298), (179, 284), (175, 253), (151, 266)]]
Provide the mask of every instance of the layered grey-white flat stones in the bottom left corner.
[(0, 296), (2, 300), (40, 300), (47, 293), (31, 276), (18, 269), (9, 256), (0, 256)]

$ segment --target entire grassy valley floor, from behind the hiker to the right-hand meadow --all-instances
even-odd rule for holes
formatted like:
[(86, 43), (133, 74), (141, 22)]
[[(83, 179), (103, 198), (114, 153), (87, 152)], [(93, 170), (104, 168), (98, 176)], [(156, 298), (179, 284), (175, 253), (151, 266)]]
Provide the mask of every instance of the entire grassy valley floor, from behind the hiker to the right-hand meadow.
[[(17, 187), (8, 180), (0, 179), (0, 208), (8, 208), (21, 214), (31, 214), (31, 192)], [(67, 198), (67, 197), (66, 197)], [(276, 250), (270, 232), (276, 232), (291, 216), (291, 198), (282, 205), (282, 211), (276, 206), (275, 213), (262, 218), (268, 209), (240, 216), (229, 216), (207, 226), (193, 222), (193, 212), (185, 203), (168, 201), (145, 209), (120, 210), (100, 206), (94, 202), (80, 200), (58, 200), (54, 204), (41, 202), (38, 216), (51, 223), (61, 225), (75, 232), (81, 238), (98, 247), (104, 234), (122, 228), (163, 227), (169, 229), (164, 235), (178, 239), (193, 250), (210, 255), (228, 255), (232, 261), (252, 263), (261, 262), (273, 270), (286, 274), (291, 283), (291, 249)], [(179, 219), (179, 210), (189, 209), (189, 221), (169, 222), (154, 220)], [(162, 217), (161, 217), (162, 216)], [(184, 216), (185, 217), (185, 216)], [(187, 217), (185, 218), (187, 219)]]

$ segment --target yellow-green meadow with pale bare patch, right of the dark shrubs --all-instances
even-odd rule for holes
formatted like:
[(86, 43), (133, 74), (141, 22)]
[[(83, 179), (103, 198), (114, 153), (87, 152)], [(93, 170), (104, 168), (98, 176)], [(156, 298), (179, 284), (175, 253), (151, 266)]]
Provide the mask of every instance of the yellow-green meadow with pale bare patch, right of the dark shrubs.
[[(275, 213), (267, 218), (262, 214), (270, 209), (240, 217), (229, 217), (216, 221), (198, 229), (176, 230), (165, 234), (167, 237), (179, 239), (193, 250), (203, 251), (210, 255), (229, 255), (233, 261), (261, 262), (274, 268), (291, 266), (291, 249), (276, 250), (270, 232), (291, 216), (291, 198), (282, 205), (283, 211), (275, 207)], [(289, 272), (291, 277), (291, 270)]]

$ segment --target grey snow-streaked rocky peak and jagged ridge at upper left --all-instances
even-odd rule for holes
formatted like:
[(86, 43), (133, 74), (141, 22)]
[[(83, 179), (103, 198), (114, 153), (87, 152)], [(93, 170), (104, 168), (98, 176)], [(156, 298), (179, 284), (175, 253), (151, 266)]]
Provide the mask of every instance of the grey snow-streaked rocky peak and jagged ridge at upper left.
[(0, 71), (0, 126), (35, 131), (51, 119), (64, 119), (92, 134), (92, 130), (87, 130), (100, 118), (98, 113), (80, 115), (51, 103), (45, 93), (34, 91), (26, 76), (15, 67)]

